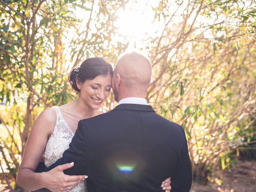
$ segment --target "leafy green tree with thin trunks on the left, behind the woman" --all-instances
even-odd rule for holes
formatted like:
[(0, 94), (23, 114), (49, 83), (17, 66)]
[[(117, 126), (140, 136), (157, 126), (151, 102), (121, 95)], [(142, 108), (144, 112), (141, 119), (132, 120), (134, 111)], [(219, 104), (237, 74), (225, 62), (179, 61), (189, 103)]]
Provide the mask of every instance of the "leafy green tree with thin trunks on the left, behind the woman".
[[(104, 35), (115, 29), (109, 12), (123, 3), (109, 9), (103, 0), (0, 0), (0, 163), (13, 178), (34, 120), (44, 108), (76, 98), (68, 71), (103, 54)], [(88, 16), (86, 25), (78, 11)]]

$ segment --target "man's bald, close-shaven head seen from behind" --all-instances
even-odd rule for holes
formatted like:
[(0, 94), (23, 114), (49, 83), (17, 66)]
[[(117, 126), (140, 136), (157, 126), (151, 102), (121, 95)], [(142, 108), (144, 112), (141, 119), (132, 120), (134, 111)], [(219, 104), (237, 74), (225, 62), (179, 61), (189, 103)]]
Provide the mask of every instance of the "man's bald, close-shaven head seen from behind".
[(145, 95), (152, 74), (151, 62), (148, 57), (138, 52), (126, 53), (116, 62), (114, 76), (116, 74), (120, 75), (126, 90)]

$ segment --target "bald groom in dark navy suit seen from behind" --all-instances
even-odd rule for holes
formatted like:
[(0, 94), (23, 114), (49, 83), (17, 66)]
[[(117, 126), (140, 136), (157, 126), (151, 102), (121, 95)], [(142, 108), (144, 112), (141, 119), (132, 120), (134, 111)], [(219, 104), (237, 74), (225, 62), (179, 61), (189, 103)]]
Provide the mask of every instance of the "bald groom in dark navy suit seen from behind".
[(188, 192), (192, 170), (182, 126), (156, 114), (145, 99), (151, 62), (131, 52), (116, 63), (112, 88), (118, 106), (80, 120), (63, 157), (44, 171), (74, 162), (69, 175), (88, 175), (89, 192)]

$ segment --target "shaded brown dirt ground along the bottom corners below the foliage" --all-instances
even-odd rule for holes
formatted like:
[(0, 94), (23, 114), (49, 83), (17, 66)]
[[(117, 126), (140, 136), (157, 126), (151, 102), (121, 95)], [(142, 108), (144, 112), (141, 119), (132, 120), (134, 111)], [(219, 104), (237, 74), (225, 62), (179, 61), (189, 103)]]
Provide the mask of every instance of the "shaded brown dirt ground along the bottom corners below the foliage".
[[(1, 174), (0, 181), (0, 192), (10, 192)], [(256, 161), (238, 161), (230, 170), (216, 170), (211, 182), (205, 186), (194, 182), (190, 192), (256, 192)]]

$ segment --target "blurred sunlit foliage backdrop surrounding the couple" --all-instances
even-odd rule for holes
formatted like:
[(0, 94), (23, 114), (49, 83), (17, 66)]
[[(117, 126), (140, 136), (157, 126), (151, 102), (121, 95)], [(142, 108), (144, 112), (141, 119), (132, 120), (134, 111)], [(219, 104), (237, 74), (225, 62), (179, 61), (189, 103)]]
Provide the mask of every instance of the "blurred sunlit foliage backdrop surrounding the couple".
[[(194, 180), (256, 159), (256, 3), (248, 0), (0, 0), (0, 172), (10, 188), (44, 108), (76, 99), (68, 72), (148, 52), (146, 99), (183, 126)], [(113, 65), (114, 66), (114, 65)], [(102, 109), (116, 106), (113, 95)], [(12, 177), (10, 182), (7, 177)]]

